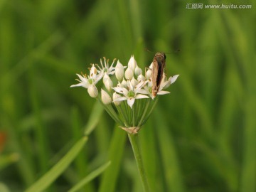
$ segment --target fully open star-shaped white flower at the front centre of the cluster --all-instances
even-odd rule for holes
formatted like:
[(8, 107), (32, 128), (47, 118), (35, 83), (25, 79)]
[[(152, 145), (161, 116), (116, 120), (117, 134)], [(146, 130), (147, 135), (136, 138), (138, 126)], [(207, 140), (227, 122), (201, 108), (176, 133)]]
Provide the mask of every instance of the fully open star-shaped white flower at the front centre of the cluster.
[(132, 86), (132, 83), (130, 81), (128, 81), (127, 84), (129, 87), (128, 90), (124, 87), (113, 87), (113, 90), (115, 90), (119, 94), (124, 95), (123, 97), (115, 99), (114, 102), (127, 100), (127, 104), (132, 109), (132, 105), (134, 105), (136, 99), (149, 98), (148, 96), (143, 95), (147, 93), (146, 90), (142, 89), (145, 82), (139, 82), (139, 84), (135, 87)]

